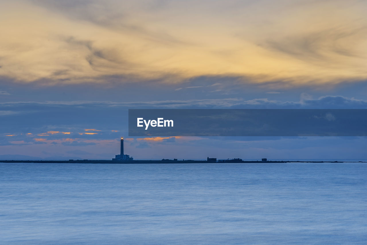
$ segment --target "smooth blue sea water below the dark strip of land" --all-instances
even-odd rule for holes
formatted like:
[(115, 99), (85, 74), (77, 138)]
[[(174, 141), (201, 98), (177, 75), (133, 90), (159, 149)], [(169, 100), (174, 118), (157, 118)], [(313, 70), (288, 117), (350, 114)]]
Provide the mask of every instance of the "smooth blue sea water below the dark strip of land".
[(367, 244), (367, 163), (0, 163), (0, 244)]

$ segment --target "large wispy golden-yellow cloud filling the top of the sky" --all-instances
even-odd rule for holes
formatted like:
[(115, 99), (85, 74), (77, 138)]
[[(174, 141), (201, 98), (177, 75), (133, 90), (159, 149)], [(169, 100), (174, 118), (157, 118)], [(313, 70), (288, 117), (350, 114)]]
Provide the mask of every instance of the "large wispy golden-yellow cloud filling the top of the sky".
[(366, 7), (358, 0), (1, 1), (0, 76), (48, 85), (364, 80)]

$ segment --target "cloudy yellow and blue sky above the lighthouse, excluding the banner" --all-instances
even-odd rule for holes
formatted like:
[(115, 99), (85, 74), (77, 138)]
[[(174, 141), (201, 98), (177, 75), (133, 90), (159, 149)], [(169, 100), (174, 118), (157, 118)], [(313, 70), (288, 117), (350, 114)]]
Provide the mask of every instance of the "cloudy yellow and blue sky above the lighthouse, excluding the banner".
[[(366, 1), (0, 0), (0, 158), (367, 159), (366, 137), (128, 137), (136, 108), (367, 108)], [(3, 155), (3, 157), (1, 157)]]

